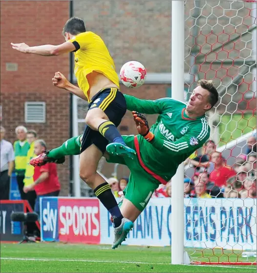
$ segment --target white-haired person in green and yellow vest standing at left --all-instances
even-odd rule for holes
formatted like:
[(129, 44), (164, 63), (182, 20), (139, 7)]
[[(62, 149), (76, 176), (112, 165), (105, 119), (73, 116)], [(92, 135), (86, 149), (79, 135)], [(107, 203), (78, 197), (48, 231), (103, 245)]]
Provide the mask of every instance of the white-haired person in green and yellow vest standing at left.
[(17, 177), (17, 184), (21, 194), (21, 199), (25, 200), (25, 193), (23, 192), (23, 180), (25, 177), (25, 169), (27, 165), (27, 153), (29, 150), (29, 143), (27, 141), (27, 128), (24, 126), (18, 126), (15, 128), (15, 133), (18, 138), (14, 142), (14, 152), (15, 152), (15, 172)]

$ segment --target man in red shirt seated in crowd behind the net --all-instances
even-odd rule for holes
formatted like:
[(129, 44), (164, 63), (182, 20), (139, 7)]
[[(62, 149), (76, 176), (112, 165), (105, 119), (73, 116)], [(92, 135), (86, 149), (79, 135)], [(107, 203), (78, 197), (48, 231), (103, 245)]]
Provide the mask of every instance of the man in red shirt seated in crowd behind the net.
[(214, 163), (214, 170), (210, 174), (210, 181), (215, 183), (215, 186), (222, 187), (226, 185), (227, 180), (236, 175), (236, 171), (227, 166), (225, 159), (220, 152), (214, 152), (211, 156), (211, 161)]

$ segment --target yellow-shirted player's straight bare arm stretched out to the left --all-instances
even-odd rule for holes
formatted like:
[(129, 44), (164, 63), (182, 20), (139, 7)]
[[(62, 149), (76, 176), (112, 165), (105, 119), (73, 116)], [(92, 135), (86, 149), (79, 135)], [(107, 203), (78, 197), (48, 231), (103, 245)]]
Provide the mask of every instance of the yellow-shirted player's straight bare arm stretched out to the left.
[(29, 46), (24, 42), (13, 43), (12, 48), (22, 53), (32, 53), (41, 56), (58, 56), (76, 50), (72, 42), (64, 42), (59, 45), (44, 44), (39, 46)]

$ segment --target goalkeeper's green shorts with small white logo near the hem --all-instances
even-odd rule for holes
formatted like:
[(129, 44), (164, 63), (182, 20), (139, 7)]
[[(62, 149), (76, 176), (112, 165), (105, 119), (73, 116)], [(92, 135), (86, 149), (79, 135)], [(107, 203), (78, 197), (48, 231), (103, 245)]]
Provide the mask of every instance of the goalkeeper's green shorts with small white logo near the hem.
[[(128, 147), (135, 149), (134, 136), (122, 136)], [(119, 163), (129, 167), (129, 184), (124, 189), (124, 196), (138, 210), (143, 211), (148, 204), (154, 190), (160, 185), (160, 182), (152, 177), (141, 167), (138, 158), (129, 159), (120, 156), (110, 155), (107, 160), (109, 163)]]

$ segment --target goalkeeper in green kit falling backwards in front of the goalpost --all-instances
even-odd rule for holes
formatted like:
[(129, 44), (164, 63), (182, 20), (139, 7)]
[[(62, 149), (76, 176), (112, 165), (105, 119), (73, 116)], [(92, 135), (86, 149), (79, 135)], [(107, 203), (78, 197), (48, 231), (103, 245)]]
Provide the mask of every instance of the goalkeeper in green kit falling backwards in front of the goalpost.
[[(66, 79), (55, 76), (53, 84), (65, 89)], [(71, 84), (69, 83), (69, 86)], [(78, 87), (73, 85), (74, 93)], [(176, 169), (196, 149), (202, 147), (210, 136), (210, 127), (205, 112), (218, 101), (218, 92), (212, 81), (200, 80), (193, 90), (188, 104), (162, 98), (155, 101), (140, 100), (125, 95), (127, 108), (133, 111), (139, 135), (123, 136), (128, 145), (136, 150), (137, 158), (121, 158), (115, 150), (105, 153), (107, 162), (127, 165), (131, 171), (129, 184), (124, 190), (125, 198), (121, 206), (122, 215), (132, 222), (148, 204), (155, 189), (166, 184)], [(159, 114), (156, 123), (149, 128), (146, 118), (141, 114)], [(56, 161), (65, 155), (80, 153), (80, 136), (67, 140), (61, 147), (48, 152), (44, 161), (31, 160), (33, 166)], [(119, 234), (114, 229), (116, 248), (126, 238), (129, 231)]]

